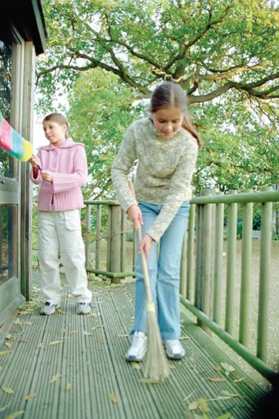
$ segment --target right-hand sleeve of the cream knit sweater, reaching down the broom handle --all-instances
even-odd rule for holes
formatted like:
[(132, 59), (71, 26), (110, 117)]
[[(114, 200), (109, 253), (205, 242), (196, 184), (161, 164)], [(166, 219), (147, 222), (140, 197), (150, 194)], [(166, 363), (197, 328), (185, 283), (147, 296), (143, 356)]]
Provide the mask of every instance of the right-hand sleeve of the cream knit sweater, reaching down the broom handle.
[(177, 168), (172, 176), (169, 193), (167, 194), (167, 199), (162, 210), (156, 218), (155, 223), (153, 223), (153, 226), (147, 231), (147, 234), (156, 242), (160, 240), (160, 237), (162, 237), (165, 230), (169, 227), (169, 224), (183, 203), (185, 191), (190, 188), (197, 160), (197, 142), (195, 138), (189, 139), (187, 147), (179, 159)]

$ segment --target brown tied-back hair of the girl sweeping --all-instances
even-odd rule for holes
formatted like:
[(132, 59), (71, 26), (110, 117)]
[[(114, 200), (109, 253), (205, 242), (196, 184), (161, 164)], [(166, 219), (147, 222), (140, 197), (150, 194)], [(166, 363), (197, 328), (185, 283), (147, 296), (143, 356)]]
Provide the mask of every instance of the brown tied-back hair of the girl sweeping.
[(188, 111), (188, 99), (185, 91), (179, 84), (165, 82), (160, 84), (153, 91), (151, 96), (150, 112), (157, 112), (159, 109), (179, 108), (183, 112), (182, 126), (189, 131), (197, 140), (198, 147), (201, 147), (202, 140), (193, 126), (192, 117)]

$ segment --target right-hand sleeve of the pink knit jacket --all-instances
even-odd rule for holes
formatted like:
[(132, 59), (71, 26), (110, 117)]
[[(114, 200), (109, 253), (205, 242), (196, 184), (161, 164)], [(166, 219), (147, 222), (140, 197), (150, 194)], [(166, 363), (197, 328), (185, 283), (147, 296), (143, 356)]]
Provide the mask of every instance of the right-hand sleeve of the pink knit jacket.
[(83, 146), (77, 146), (77, 152), (73, 159), (73, 173), (53, 172), (52, 185), (54, 193), (68, 191), (77, 186), (85, 186), (87, 178), (87, 160)]

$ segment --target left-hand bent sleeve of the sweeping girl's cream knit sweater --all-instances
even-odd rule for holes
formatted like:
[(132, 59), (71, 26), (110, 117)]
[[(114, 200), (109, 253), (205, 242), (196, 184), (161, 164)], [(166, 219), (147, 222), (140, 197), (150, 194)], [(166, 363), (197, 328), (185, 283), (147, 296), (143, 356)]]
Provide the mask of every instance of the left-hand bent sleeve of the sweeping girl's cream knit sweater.
[(137, 158), (134, 125), (131, 124), (126, 131), (119, 153), (112, 165), (112, 183), (116, 197), (124, 211), (127, 211), (131, 205), (137, 204), (137, 200), (130, 193), (127, 177)]

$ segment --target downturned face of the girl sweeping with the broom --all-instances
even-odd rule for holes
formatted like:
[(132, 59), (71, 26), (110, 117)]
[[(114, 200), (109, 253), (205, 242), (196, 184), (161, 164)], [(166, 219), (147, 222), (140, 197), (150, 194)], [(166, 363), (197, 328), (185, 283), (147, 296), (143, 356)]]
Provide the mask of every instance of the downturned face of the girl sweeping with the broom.
[(151, 118), (156, 130), (165, 138), (169, 138), (181, 128), (183, 112), (179, 108), (163, 108), (153, 112)]

